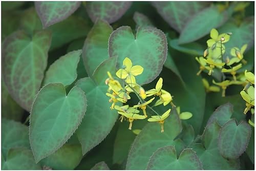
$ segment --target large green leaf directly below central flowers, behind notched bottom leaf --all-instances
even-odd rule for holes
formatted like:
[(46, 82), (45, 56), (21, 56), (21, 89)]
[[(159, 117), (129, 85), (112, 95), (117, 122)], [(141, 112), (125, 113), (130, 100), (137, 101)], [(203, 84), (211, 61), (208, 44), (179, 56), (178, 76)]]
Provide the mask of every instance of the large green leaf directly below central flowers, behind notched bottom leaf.
[[(136, 121), (134, 121), (136, 122)], [(146, 169), (147, 162), (158, 148), (167, 145), (184, 146), (180, 140), (174, 140), (182, 130), (176, 109), (164, 121), (164, 133), (159, 123), (147, 123), (135, 138), (127, 159), (126, 169)]]

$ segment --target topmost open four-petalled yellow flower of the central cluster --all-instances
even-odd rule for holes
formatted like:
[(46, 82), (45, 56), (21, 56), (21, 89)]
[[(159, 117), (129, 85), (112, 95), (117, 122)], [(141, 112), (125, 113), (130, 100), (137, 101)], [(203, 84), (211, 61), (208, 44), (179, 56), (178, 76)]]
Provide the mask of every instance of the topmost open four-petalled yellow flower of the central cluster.
[(126, 78), (125, 81), (127, 83), (136, 83), (134, 76), (140, 75), (143, 72), (143, 68), (141, 66), (133, 66), (131, 59), (127, 57), (123, 60), (123, 66), (125, 69), (119, 69), (116, 75), (121, 79)]

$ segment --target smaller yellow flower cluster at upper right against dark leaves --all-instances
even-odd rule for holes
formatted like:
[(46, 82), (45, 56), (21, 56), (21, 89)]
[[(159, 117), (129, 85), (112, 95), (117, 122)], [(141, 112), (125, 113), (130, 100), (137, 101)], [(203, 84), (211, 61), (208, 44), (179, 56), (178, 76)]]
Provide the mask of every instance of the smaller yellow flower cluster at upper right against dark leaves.
[[(240, 75), (237, 77), (237, 71), (242, 68), (242, 63), (246, 63), (246, 61), (243, 59), (243, 54), (247, 48), (247, 45), (245, 44), (241, 49), (233, 47), (226, 50), (224, 44), (229, 41), (231, 35), (232, 33), (219, 34), (216, 29), (212, 29), (210, 31), (211, 38), (207, 40), (208, 48), (204, 51), (203, 56), (196, 57), (196, 60), (200, 64), (200, 71), (197, 73), (197, 75), (204, 70), (208, 71), (208, 75), (217, 72), (217, 70), (223, 74), (221, 82), (212, 80), (212, 83), (222, 89), (222, 97), (225, 97), (225, 92), (228, 86), (232, 84), (246, 84), (244, 76)], [(228, 55), (224, 56), (224, 53), (228, 53)], [(220, 91), (220, 89), (216, 86), (209, 86), (206, 79), (203, 79), (203, 84), (206, 92)]]

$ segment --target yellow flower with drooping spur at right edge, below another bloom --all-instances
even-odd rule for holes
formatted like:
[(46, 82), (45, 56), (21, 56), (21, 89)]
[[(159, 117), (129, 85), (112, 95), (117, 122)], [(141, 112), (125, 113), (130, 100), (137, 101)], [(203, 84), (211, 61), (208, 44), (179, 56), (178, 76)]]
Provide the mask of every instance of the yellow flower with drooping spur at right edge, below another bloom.
[(244, 110), (244, 114), (246, 114), (252, 106), (254, 106), (254, 87), (250, 86), (246, 91), (241, 91), (240, 92), (241, 96), (243, 99), (246, 101), (246, 108)]

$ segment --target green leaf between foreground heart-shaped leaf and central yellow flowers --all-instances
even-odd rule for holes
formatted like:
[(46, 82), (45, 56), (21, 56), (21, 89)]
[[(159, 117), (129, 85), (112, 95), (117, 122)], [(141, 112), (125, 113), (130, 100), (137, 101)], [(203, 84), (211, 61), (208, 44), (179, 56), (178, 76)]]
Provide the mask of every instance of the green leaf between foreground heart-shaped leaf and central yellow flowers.
[(116, 71), (115, 60), (109, 58), (102, 62), (94, 73), (94, 80), (82, 78), (76, 82), (76, 86), (86, 93), (88, 99), (87, 113), (76, 131), (83, 155), (110, 133), (117, 119), (117, 112), (110, 109), (109, 97), (105, 95), (108, 86), (104, 84), (105, 79), (108, 78), (107, 72), (113, 74)]

